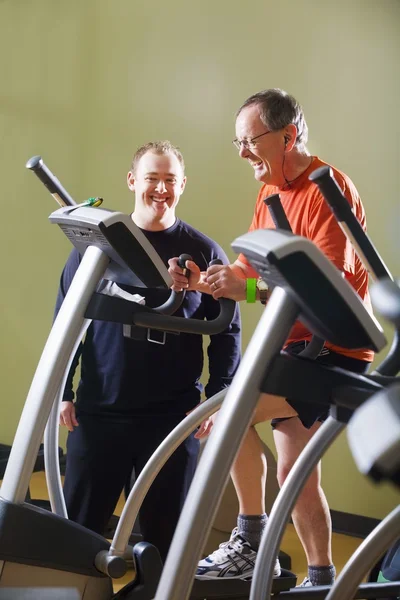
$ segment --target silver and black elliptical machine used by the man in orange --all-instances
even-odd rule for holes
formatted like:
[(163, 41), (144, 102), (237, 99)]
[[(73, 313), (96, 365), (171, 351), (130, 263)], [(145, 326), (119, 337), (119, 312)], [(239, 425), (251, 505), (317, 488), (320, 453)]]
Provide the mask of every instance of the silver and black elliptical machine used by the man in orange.
[[(324, 450), (345, 428), (354, 410), (375, 391), (391, 385), (397, 372), (399, 348), (396, 345), (390, 360), (386, 361), (385, 376), (379, 373), (356, 375), (281, 353), (297, 318), (314, 335), (342, 347), (370, 347), (379, 351), (386, 340), (378, 322), (367, 312), (351, 286), (308, 240), (283, 231), (260, 230), (241, 236), (232, 245), (235, 251), (243, 252), (254, 269), (276, 289), (228, 391), (219, 427), (210, 435), (176, 529), (156, 600), (189, 597), (198, 556), (207, 535), (205, 524), (212, 520), (220, 490), (260, 391), (299, 397), (325, 406), (333, 404), (335, 418), (330, 417), (314, 436), (282, 487), (278, 496), (282, 499), (282, 522), (278, 523), (277, 515), (274, 518), (274, 505), (258, 553), (251, 600), (269, 597), (273, 564), (283, 533), (281, 528), (286, 524), (302, 483)], [(311, 389), (310, 381), (313, 382)], [(375, 597), (377, 589), (361, 586), (356, 597)], [(399, 589), (396, 583), (385, 588), (385, 592), (393, 597), (398, 595)], [(304, 595), (319, 599), (325, 598), (329, 591), (330, 588), (305, 588), (282, 592), (281, 597), (294, 600)], [(380, 591), (383, 592), (383, 588)]]

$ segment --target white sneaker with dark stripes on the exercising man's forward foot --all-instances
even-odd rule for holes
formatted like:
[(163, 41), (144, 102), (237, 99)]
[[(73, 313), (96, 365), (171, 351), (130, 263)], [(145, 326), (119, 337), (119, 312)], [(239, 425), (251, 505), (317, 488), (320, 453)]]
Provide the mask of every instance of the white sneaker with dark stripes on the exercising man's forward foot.
[[(219, 579), (220, 577), (251, 579), (256, 558), (257, 552), (238, 534), (235, 527), (228, 542), (220, 544), (218, 550), (199, 562), (196, 579)], [(274, 577), (279, 577), (280, 574), (281, 566), (276, 559)]]

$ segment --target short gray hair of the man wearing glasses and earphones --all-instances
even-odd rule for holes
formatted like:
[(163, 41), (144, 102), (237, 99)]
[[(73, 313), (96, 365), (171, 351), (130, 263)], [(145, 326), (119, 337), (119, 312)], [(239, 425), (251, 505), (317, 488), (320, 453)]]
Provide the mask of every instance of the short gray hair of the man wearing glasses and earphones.
[(297, 100), (279, 88), (263, 90), (253, 94), (242, 104), (236, 113), (236, 117), (247, 106), (258, 105), (260, 107), (260, 118), (270, 131), (278, 131), (286, 125), (296, 125), (296, 146), (305, 148), (308, 140), (308, 127), (304, 118), (301, 105)]

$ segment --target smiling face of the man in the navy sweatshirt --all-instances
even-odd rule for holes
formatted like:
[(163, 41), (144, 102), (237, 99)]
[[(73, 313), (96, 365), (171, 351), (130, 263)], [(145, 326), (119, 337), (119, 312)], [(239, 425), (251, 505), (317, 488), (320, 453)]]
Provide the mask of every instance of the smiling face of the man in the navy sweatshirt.
[(175, 223), (175, 207), (185, 189), (186, 177), (178, 158), (172, 152), (146, 152), (128, 173), (128, 187), (135, 192), (136, 225), (150, 231), (161, 231)]

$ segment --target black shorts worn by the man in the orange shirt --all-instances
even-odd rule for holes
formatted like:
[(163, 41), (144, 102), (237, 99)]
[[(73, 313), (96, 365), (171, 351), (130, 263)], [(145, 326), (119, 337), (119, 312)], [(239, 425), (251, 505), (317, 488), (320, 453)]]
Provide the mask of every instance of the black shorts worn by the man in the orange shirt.
[[(306, 341), (293, 342), (292, 344), (289, 344), (287, 348), (285, 348), (285, 352), (296, 356), (297, 354), (300, 354), (302, 350), (304, 350), (307, 344), (308, 342)], [(315, 360), (321, 365), (326, 365), (328, 367), (340, 367), (341, 369), (346, 369), (347, 371), (353, 371), (354, 373), (360, 374), (366, 373), (371, 364), (365, 360), (359, 360), (358, 358), (351, 358), (350, 356), (333, 352), (332, 350), (325, 348), (325, 346)], [(312, 402), (303, 402), (302, 400), (292, 400), (291, 398), (286, 398), (286, 401), (292, 408), (294, 408), (300, 421), (307, 429), (310, 429), (310, 427), (312, 427), (316, 421), (325, 421), (325, 419), (329, 416), (329, 410), (327, 410), (325, 406), (319, 406), (318, 404), (313, 404)], [(293, 417), (272, 419), (272, 429), (275, 429), (278, 423), (292, 418)]]

